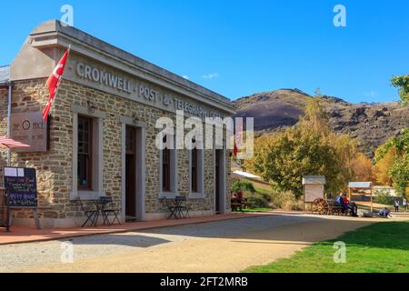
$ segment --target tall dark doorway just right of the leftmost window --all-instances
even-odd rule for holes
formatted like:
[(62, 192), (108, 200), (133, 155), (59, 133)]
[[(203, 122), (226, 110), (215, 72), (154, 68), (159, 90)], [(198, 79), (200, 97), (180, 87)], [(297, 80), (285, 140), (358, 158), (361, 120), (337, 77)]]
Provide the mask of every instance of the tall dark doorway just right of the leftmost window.
[(126, 125), (125, 151), (125, 219), (136, 221), (136, 128), (129, 125)]

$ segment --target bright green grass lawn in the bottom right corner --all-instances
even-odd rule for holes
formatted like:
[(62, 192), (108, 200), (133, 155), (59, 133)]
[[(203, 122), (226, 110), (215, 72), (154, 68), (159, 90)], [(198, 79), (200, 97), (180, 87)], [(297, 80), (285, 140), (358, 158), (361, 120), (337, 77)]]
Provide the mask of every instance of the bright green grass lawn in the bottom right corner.
[[(334, 242), (346, 244), (346, 263), (334, 263)], [(273, 250), (272, 250), (273, 251)], [(267, 266), (252, 266), (249, 273), (407, 273), (409, 223), (385, 222), (366, 226), (332, 241), (304, 248), (294, 256)]]

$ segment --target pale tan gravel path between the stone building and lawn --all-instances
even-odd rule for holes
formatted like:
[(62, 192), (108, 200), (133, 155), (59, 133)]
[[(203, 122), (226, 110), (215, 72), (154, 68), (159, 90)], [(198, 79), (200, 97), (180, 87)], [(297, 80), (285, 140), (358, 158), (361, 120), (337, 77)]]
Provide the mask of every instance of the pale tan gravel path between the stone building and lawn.
[[(1, 272), (236, 272), (266, 264), (315, 241), (374, 220), (257, 216), (192, 226), (70, 239), (74, 264), (61, 263), (65, 241), (0, 246)], [(234, 252), (232, 252), (234, 249)]]

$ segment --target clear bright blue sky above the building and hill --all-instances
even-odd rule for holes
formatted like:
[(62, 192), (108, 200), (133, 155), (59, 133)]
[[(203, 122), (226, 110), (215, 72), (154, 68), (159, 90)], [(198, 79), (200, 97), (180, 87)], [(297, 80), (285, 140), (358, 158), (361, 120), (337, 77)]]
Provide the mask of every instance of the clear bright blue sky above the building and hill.
[[(392, 75), (409, 73), (407, 0), (4, 1), (0, 65), (62, 5), (74, 25), (235, 99), (299, 88), (349, 102), (392, 101)], [(333, 24), (346, 7), (346, 27)]]

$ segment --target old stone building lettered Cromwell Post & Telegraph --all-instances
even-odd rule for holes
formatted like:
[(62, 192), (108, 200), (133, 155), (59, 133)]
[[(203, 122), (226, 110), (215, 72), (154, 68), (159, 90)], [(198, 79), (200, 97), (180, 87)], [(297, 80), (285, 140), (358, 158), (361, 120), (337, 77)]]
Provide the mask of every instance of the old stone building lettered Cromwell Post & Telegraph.
[[(43, 127), (39, 115), (48, 100), (45, 82), (69, 45), (52, 117)], [(7, 135), (9, 88), (10, 135), (33, 145), (13, 151), (11, 163), (36, 169), (43, 226), (81, 224), (78, 197), (112, 196), (123, 221), (165, 218), (162, 197), (186, 196), (191, 216), (230, 211), (231, 151), (225, 141), (219, 149), (155, 145), (156, 121), (165, 116), (176, 124), (176, 110), (204, 124), (205, 116), (234, 115), (224, 96), (58, 21), (36, 27), (13, 63), (0, 67), (0, 136)], [(32, 132), (22, 132), (25, 119), (41, 131), (33, 140)], [(2, 169), (6, 157), (2, 150)], [(15, 209), (13, 223), (34, 224), (31, 216), (31, 211)]]

